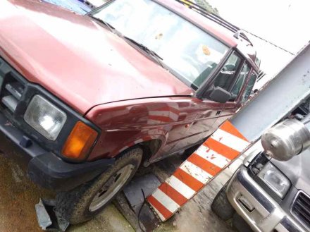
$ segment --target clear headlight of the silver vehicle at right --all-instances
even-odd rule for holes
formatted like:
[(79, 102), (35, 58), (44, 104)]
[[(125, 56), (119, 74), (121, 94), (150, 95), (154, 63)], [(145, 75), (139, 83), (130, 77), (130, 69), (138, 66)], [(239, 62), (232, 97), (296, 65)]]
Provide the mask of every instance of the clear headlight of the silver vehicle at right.
[(270, 162), (258, 174), (261, 181), (266, 183), (273, 192), (283, 198), (290, 188), (290, 181)]

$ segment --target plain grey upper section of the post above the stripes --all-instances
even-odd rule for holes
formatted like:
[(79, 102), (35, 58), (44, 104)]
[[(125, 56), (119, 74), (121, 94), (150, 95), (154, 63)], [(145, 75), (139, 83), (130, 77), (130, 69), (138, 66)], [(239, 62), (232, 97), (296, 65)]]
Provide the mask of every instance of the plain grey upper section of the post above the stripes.
[(310, 44), (307, 44), (230, 122), (254, 142), (310, 97), (309, 86)]

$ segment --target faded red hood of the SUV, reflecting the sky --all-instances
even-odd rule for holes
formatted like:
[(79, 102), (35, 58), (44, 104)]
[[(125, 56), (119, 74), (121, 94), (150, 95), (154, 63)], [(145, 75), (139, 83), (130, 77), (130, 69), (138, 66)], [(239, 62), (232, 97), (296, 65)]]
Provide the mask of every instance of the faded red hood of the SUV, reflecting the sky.
[(107, 102), (192, 93), (88, 16), (35, 0), (0, 1), (0, 56), (81, 114)]

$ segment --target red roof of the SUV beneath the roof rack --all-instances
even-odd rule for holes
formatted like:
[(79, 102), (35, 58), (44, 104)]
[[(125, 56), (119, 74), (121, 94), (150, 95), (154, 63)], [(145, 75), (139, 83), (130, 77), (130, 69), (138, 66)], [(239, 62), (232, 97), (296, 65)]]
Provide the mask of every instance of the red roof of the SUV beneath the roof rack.
[[(256, 65), (256, 50), (254, 49), (253, 45), (249, 40), (244, 39), (242, 37), (236, 38), (235, 32), (229, 30), (228, 28), (224, 27), (220, 23), (216, 23), (215, 20), (211, 20), (206, 18), (201, 13), (190, 9), (185, 4), (180, 3), (178, 0), (152, 0), (161, 4), (168, 8), (169, 10), (177, 13), (182, 18), (190, 21), (198, 28), (205, 30), (216, 39), (223, 42), (223, 44), (227, 45), (230, 48), (236, 48), (237, 51), (240, 52), (244, 56), (244, 58), (250, 63), (256, 72), (259, 71), (259, 67)], [(188, 1), (187, 1), (188, 2)]]

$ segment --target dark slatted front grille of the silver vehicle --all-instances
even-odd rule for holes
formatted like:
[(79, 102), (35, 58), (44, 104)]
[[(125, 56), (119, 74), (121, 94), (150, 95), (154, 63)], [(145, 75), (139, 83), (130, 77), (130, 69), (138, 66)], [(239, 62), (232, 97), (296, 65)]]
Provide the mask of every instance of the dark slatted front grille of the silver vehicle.
[(303, 192), (299, 192), (292, 204), (292, 214), (304, 226), (310, 228), (310, 197)]

